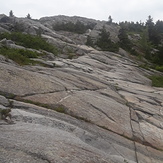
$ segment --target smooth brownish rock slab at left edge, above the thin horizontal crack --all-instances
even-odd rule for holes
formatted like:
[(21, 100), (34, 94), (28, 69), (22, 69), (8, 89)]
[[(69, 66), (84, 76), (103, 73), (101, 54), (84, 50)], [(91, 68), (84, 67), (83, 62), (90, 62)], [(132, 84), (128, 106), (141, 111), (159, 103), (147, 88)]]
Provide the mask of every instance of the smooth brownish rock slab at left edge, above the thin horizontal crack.
[(2, 92), (15, 95), (26, 95), (63, 91), (64, 86), (60, 83), (54, 83), (48, 75), (1, 63), (0, 89)]

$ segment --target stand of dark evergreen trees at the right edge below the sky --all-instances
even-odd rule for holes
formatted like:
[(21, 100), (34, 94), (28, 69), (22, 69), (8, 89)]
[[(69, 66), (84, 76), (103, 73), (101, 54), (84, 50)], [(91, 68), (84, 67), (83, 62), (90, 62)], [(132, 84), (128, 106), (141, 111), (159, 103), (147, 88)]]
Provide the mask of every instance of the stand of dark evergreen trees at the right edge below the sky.
[[(119, 45), (131, 54), (144, 55), (156, 65), (163, 66), (163, 21), (153, 22), (151, 16), (146, 23), (121, 22), (119, 32)], [(139, 34), (137, 41), (128, 36)], [(136, 49), (136, 53), (134, 53)]]

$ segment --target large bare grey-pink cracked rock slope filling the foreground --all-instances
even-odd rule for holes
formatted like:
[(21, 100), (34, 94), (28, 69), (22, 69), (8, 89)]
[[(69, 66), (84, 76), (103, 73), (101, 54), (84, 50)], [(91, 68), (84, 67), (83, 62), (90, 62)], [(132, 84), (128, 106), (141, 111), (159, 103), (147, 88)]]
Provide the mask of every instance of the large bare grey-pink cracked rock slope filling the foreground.
[(0, 107), (12, 104), (15, 122), (0, 120), (0, 162), (162, 163), (163, 89), (145, 77), (155, 72), (69, 45), (83, 55), (46, 60), (53, 68), (0, 57)]

